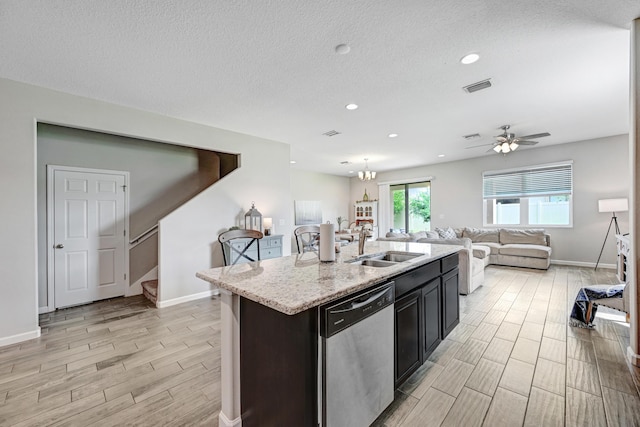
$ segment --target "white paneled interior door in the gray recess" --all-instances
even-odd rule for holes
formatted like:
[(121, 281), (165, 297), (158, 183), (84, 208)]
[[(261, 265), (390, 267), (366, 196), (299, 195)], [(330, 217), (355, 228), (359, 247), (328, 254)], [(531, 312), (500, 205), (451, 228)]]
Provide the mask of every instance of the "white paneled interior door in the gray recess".
[(125, 293), (125, 175), (53, 172), (55, 308)]

